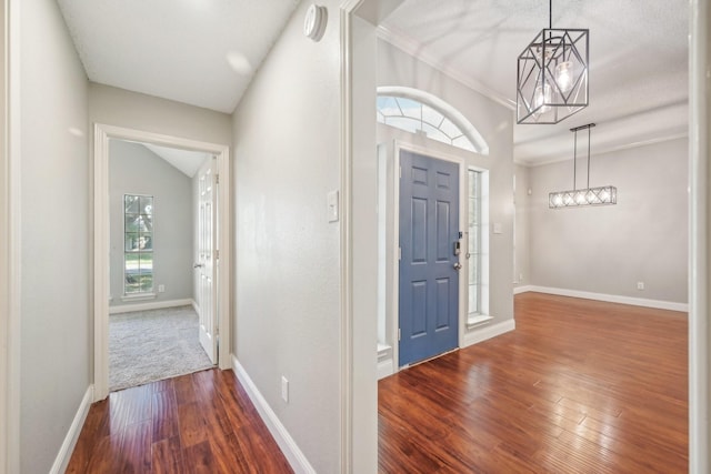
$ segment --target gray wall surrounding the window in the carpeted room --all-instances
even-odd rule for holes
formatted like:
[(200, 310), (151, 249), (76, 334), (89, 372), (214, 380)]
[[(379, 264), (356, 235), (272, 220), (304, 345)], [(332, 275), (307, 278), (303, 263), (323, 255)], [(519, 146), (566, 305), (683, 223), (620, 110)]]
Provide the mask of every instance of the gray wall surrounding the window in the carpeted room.
[[(191, 179), (140, 143), (109, 144), (111, 306), (123, 295), (123, 194), (153, 196), (153, 292), (151, 302), (193, 297), (193, 196)], [(166, 285), (158, 293), (158, 285)], [(146, 301), (141, 301), (144, 303)], [(133, 302), (136, 303), (136, 302)]]

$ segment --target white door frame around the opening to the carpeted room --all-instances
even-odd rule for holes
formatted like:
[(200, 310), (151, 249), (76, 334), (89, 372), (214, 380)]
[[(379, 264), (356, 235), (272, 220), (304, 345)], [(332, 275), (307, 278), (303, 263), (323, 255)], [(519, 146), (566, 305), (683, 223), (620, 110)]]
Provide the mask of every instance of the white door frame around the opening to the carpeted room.
[(153, 143), (217, 155), (218, 173), (222, 177), (218, 186), (218, 327), (220, 349), (219, 367), (231, 369), (230, 361), (230, 151), (228, 145), (163, 135), (122, 127), (94, 124), (93, 158), (93, 309), (94, 309), (94, 401), (109, 394), (109, 139)]

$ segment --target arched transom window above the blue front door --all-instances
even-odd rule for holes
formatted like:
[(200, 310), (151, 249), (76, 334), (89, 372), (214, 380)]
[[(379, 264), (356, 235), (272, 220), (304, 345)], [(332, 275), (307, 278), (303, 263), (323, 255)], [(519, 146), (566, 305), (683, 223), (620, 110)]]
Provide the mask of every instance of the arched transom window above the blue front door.
[(489, 154), (489, 145), (461, 112), (419, 89), (378, 88), (378, 121), (452, 147)]

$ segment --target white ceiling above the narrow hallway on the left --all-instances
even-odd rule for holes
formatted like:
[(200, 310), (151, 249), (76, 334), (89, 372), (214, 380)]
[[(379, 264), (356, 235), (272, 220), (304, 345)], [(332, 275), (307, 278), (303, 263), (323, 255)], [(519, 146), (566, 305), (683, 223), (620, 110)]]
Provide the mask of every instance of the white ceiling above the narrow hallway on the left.
[(232, 113), (299, 0), (58, 0), (93, 82)]

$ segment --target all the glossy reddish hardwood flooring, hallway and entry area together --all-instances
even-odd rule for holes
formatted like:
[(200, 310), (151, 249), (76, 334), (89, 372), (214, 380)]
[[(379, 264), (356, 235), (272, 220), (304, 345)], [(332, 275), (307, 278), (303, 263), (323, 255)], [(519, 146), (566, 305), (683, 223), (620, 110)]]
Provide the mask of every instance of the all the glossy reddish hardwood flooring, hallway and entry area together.
[[(382, 473), (685, 473), (687, 315), (524, 293), (517, 330), (379, 383)], [(231, 371), (92, 405), (68, 473), (290, 473)]]

